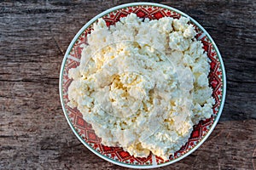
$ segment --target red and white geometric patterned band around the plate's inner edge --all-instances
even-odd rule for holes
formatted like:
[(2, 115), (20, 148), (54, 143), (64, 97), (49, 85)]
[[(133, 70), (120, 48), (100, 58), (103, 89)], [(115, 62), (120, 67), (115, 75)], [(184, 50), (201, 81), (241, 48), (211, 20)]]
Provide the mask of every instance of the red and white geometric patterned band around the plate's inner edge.
[[(120, 8), (116, 11), (113, 11), (109, 14), (106, 14), (102, 18), (106, 21), (107, 25), (114, 25), (120, 18), (127, 16), (128, 14), (135, 13), (138, 17), (148, 18), (149, 20), (158, 20), (162, 17), (169, 16), (173, 18), (179, 18), (181, 14), (177, 14), (176, 12), (155, 6), (132, 6), (127, 8)], [(113, 161), (122, 162), (130, 165), (152, 165), (153, 163), (161, 164), (164, 162), (172, 161), (177, 159), (180, 156), (183, 156), (189, 150), (193, 149), (196, 144), (199, 144), (201, 139), (203, 139), (208, 133), (210, 127), (218, 114), (220, 102), (223, 95), (223, 82), (222, 82), (222, 69), (218, 59), (218, 54), (213, 48), (212, 42), (208, 39), (206, 34), (201, 31), (198, 26), (195, 26), (195, 30), (197, 31), (196, 38), (201, 40), (203, 43), (203, 48), (207, 51), (208, 58), (211, 59), (211, 71), (209, 74), (209, 82), (212, 86), (213, 93), (212, 96), (216, 100), (215, 105), (213, 105), (213, 113), (214, 116), (211, 118), (199, 122), (194, 127), (194, 131), (191, 133), (191, 136), (188, 142), (183, 145), (183, 147), (178, 150), (174, 155), (170, 156), (169, 160), (164, 161), (159, 156), (148, 156), (147, 158), (139, 158), (131, 156), (128, 152), (123, 150), (120, 147), (108, 147), (101, 144), (101, 139), (98, 138), (92, 129), (91, 125), (84, 121), (82, 114), (77, 109), (72, 109), (67, 106), (68, 102), (68, 94), (67, 89), (71, 79), (67, 77), (68, 70), (70, 68), (75, 68), (79, 65), (79, 59), (81, 58), (81, 44), (86, 43), (87, 35), (90, 34), (91, 26), (89, 26), (84, 32), (79, 36), (78, 40), (73, 44), (72, 50), (69, 52), (66, 63), (64, 65), (64, 71), (62, 75), (62, 99), (64, 102), (64, 107), (67, 111), (67, 116), (70, 122), (73, 124), (73, 127), (79, 133), (80, 137), (88, 144), (90, 147), (97, 152), (99, 152), (102, 156), (107, 156), (109, 159)], [(153, 162), (156, 161), (156, 162)]]

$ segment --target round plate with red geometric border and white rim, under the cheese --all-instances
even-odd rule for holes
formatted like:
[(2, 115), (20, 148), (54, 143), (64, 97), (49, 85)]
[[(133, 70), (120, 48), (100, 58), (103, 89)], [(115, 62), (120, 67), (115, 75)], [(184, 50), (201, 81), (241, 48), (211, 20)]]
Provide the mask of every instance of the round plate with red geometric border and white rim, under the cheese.
[(189, 17), (197, 31), (196, 38), (201, 40), (208, 58), (211, 59), (211, 71), (208, 79), (213, 89), (212, 96), (216, 100), (216, 103), (212, 108), (214, 116), (195, 125), (188, 142), (174, 155), (171, 155), (167, 161), (164, 161), (160, 157), (152, 154), (147, 158), (134, 157), (120, 147), (108, 147), (101, 144), (101, 139), (96, 136), (91, 125), (84, 121), (82, 114), (77, 109), (72, 109), (67, 105), (67, 88), (72, 82), (72, 80), (67, 77), (68, 70), (79, 65), (82, 50), (80, 46), (81, 44), (86, 43), (86, 37), (90, 34), (92, 24), (96, 22), (96, 20), (102, 18), (106, 21), (108, 26), (111, 26), (119, 21), (121, 17), (125, 17), (127, 14), (131, 13), (137, 14), (140, 18), (149, 18), (149, 20), (158, 20), (165, 16), (173, 18), (179, 18), (181, 16), (189, 17), (187, 14), (184, 14), (176, 8), (158, 3), (127, 3), (110, 8), (102, 12), (102, 14), (96, 15), (96, 17), (82, 27), (67, 48), (67, 52), (62, 61), (60, 73), (61, 105), (73, 133), (75, 133), (79, 140), (97, 156), (123, 167), (162, 167), (179, 161), (185, 156), (189, 156), (189, 154), (195, 151), (207, 139), (210, 133), (212, 133), (212, 130), (216, 126), (224, 107), (226, 90), (224, 64), (212, 37), (210, 37), (207, 31), (200, 24)]

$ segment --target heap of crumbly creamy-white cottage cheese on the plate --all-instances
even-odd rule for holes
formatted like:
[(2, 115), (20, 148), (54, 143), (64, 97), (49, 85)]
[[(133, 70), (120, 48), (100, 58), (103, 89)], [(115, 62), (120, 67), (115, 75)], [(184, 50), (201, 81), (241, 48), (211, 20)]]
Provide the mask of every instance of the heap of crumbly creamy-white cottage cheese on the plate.
[(189, 19), (99, 19), (68, 72), (68, 105), (91, 123), (102, 144), (133, 156), (168, 159), (200, 120), (212, 116), (209, 59)]

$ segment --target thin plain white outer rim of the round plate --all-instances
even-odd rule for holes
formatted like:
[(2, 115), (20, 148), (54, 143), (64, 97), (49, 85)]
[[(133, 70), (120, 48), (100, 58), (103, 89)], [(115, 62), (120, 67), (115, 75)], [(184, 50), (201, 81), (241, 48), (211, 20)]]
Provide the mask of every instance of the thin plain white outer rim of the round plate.
[[(164, 163), (160, 163), (160, 164), (154, 164), (154, 162), (152, 163), (152, 165), (133, 165), (133, 164), (127, 164), (125, 162), (121, 162), (121, 161), (114, 161), (112, 159), (110, 159), (108, 156), (104, 156), (102, 155), (100, 152), (94, 150), (93, 148), (91, 148), (91, 146), (89, 144), (87, 144), (84, 139), (81, 138), (81, 136), (79, 135), (79, 133), (76, 131), (76, 129), (73, 127), (73, 123), (70, 121), (69, 117), (67, 116), (67, 111), (64, 105), (64, 101), (63, 101), (63, 93), (62, 93), (62, 80), (63, 80), (63, 72), (64, 72), (64, 67), (67, 61), (67, 56), (69, 55), (70, 51), (73, 48), (73, 45), (75, 44), (75, 42), (77, 42), (78, 38), (80, 37), (80, 35), (84, 32), (84, 30), (86, 30), (89, 26), (91, 26), (91, 24), (93, 24), (96, 20), (98, 20), (99, 18), (101, 18), (102, 16), (109, 14), (110, 12), (113, 12), (115, 10), (118, 10), (119, 8), (127, 8), (127, 7), (131, 7), (131, 6), (155, 6), (155, 7), (160, 7), (160, 8), (166, 8), (166, 9), (170, 9), (174, 12), (176, 12), (177, 14), (181, 14), (187, 18), (189, 18), (189, 20), (191, 20), (196, 26), (198, 26), (201, 31), (203, 31), (207, 38), (209, 39), (210, 42), (212, 42), (212, 47), (215, 49), (218, 59), (219, 59), (219, 63), (220, 63), (220, 67), (222, 70), (222, 83), (223, 83), (223, 87), (222, 87), (222, 99), (221, 99), (221, 103), (219, 106), (219, 110), (217, 113), (217, 116), (214, 119), (214, 122), (212, 123), (212, 126), (210, 127), (209, 131), (207, 132), (207, 134), (199, 141), (198, 144), (195, 145), (195, 147), (193, 147), (191, 150), (189, 150), (188, 152), (186, 152), (183, 156), (180, 156), (172, 161), (167, 161)], [(185, 158), (186, 156), (189, 156), (192, 152), (194, 152), (195, 150), (197, 150), (201, 144), (203, 144), (207, 138), (210, 136), (210, 134), (212, 133), (213, 129), (216, 127), (219, 118), (222, 114), (223, 108), (224, 108), (224, 101), (225, 101), (225, 96), (226, 96), (226, 75), (225, 75), (225, 69), (224, 69), (224, 62), (223, 59), (221, 57), (221, 54), (219, 53), (218, 47), (216, 45), (216, 43), (213, 41), (212, 37), (209, 35), (209, 33), (193, 18), (191, 18), (188, 14), (183, 13), (182, 11), (180, 11), (177, 8), (173, 8), (167, 5), (163, 5), (160, 3), (125, 3), (125, 4), (121, 4), (118, 6), (115, 6), (113, 8), (109, 8), (105, 11), (103, 11), (100, 14), (97, 14), (95, 17), (93, 17), (91, 20), (89, 20), (75, 35), (75, 37), (73, 37), (72, 42), (69, 43), (68, 48), (66, 50), (66, 53), (64, 55), (64, 58), (62, 59), (62, 63), (61, 63), (61, 70), (60, 70), (60, 78), (59, 78), (59, 94), (60, 94), (60, 99), (61, 99), (61, 107), (62, 107), (62, 111), (67, 119), (67, 122), (69, 124), (69, 126), (72, 128), (73, 133), (75, 133), (75, 135), (77, 136), (77, 138), (80, 140), (80, 142), (82, 144), (84, 144), (90, 151), (92, 151), (94, 154), (96, 154), (96, 156), (101, 157), (102, 159), (112, 162), (113, 164), (122, 166), (122, 167), (131, 167), (131, 168), (154, 168), (154, 167), (163, 167), (166, 165), (170, 165), (172, 163), (175, 163), (177, 161), (182, 160), (183, 158)]]

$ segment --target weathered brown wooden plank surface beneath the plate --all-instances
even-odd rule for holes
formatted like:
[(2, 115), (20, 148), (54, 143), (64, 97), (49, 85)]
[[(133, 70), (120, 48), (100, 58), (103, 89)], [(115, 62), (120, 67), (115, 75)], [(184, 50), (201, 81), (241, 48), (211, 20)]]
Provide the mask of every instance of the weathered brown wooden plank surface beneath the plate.
[[(124, 169), (75, 137), (61, 110), (58, 80), (76, 32), (105, 9), (131, 2), (136, 1), (1, 1), (0, 169)], [(228, 80), (223, 115), (209, 139), (165, 168), (255, 169), (255, 1), (160, 3), (207, 29), (223, 55)]]

